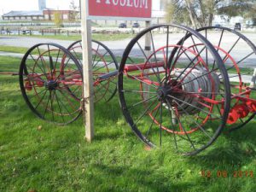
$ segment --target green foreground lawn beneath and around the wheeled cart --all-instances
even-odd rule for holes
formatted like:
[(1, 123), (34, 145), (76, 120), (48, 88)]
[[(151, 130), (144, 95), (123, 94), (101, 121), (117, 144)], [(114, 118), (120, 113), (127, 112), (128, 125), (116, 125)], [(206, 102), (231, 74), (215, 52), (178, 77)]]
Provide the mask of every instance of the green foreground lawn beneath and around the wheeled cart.
[[(17, 72), (19, 64), (20, 59), (0, 57), (0, 71)], [(92, 143), (84, 140), (82, 118), (59, 126), (33, 115), (17, 76), (0, 76), (0, 105), (0, 191), (256, 189), (255, 121), (186, 157), (166, 147), (145, 150), (125, 123), (118, 96), (96, 103)]]

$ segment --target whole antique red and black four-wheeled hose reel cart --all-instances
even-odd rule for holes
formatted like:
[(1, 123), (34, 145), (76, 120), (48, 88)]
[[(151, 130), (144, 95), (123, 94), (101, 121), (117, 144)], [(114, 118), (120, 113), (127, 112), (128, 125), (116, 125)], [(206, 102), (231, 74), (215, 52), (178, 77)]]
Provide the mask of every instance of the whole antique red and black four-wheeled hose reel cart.
[[(255, 78), (247, 65), (255, 60), (253, 43), (228, 28), (151, 26), (131, 40), (120, 64), (106, 45), (92, 42), (93, 96), (108, 102), (118, 90), (124, 117), (143, 143), (193, 155), (224, 129), (253, 119)], [(21, 61), (20, 90), (39, 118), (66, 125), (82, 113), (82, 73), (80, 41), (67, 49), (37, 44)]]

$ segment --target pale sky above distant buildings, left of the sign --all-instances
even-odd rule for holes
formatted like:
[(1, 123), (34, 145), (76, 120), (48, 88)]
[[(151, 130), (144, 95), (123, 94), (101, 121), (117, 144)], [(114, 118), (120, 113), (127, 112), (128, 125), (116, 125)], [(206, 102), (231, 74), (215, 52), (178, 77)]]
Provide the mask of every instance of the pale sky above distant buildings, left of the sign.
[[(71, 0), (46, 0), (47, 8), (69, 9)], [(79, 4), (79, 0), (74, 0)], [(11, 10), (38, 10), (38, 0), (0, 0), (0, 15)]]

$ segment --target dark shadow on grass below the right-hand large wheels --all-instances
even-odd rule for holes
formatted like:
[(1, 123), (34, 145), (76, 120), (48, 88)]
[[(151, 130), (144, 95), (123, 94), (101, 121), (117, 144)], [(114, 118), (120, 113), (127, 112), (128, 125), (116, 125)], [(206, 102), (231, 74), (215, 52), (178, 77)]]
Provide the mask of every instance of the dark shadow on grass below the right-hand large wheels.
[(223, 166), (233, 171), (235, 167), (252, 163), (256, 157), (254, 125), (255, 122), (251, 122), (238, 131), (223, 133), (212, 146), (197, 156), (189, 157), (188, 161), (208, 169)]

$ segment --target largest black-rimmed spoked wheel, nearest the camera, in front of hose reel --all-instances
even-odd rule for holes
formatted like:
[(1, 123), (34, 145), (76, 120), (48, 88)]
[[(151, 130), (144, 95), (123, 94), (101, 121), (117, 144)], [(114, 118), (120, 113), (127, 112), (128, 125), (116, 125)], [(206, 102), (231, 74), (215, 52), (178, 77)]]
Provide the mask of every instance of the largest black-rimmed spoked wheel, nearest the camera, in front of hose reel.
[[(197, 51), (193, 42), (203, 46)], [(118, 80), (125, 119), (150, 147), (197, 154), (224, 128), (230, 111), (224, 63), (212, 44), (188, 27), (160, 25), (140, 32), (125, 49)]]

